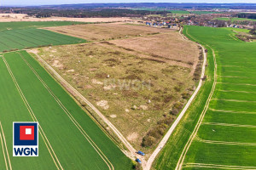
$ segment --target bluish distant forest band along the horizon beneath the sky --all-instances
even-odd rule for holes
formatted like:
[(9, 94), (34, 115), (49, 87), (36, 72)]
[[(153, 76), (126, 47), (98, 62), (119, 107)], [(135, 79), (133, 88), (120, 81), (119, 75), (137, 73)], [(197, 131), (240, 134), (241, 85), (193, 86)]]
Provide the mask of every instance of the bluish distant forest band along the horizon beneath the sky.
[[(141, 10), (143, 8), (150, 10)], [(161, 8), (163, 10), (159, 10)], [(166, 9), (212, 10), (213, 8), (256, 9), (256, 3), (84, 3), (0, 8), (0, 13), (28, 14), (38, 18), (140, 17), (147, 14), (167, 14)], [(237, 17), (255, 19), (253, 14), (240, 14)]]

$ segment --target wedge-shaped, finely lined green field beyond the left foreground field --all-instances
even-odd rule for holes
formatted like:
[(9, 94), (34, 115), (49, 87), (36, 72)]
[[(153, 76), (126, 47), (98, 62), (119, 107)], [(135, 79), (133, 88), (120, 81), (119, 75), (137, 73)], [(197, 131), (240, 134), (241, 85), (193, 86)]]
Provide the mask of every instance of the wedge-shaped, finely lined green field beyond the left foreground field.
[(0, 52), (80, 42), (86, 41), (78, 37), (69, 37), (53, 31), (34, 28), (0, 31)]

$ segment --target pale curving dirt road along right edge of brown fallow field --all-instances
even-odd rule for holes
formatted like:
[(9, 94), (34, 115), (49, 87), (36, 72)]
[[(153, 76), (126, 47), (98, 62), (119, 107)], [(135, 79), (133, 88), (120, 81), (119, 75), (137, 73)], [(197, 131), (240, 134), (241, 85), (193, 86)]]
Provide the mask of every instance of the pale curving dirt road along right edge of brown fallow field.
[[(183, 30), (182, 28), (179, 30), (180, 36), (183, 37), (183, 40), (189, 41), (181, 33), (182, 30)], [(195, 42), (193, 42), (193, 43), (195, 43)], [(199, 45), (201, 46), (201, 44), (199, 44)], [(195, 89), (195, 92), (192, 94), (192, 96), (190, 97), (190, 99), (187, 102), (187, 104), (183, 107), (183, 111), (181, 111), (180, 114), (177, 116), (175, 122), (172, 123), (172, 126), (169, 128), (169, 130), (167, 131), (166, 135), (161, 139), (160, 143), (157, 145), (157, 147), (154, 150), (154, 152), (152, 153), (152, 155), (148, 158), (147, 166), (144, 168), (145, 170), (149, 170), (150, 169), (150, 167), (152, 166), (152, 163), (154, 162), (155, 157), (159, 154), (160, 150), (165, 146), (166, 142), (171, 137), (171, 135), (172, 135), (173, 131), (175, 130), (175, 128), (177, 127), (178, 123), (182, 120), (184, 114), (188, 110), (188, 108), (191, 105), (192, 101), (195, 99), (196, 94), (198, 94), (199, 90), (201, 89), (201, 85), (202, 85), (202, 82), (203, 82), (202, 79), (205, 76), (205, 68), (206, 68), (206, 64), (207, 64), (207, 53), (205, 51), (205, 48), (203, 46), (201, 46), (201, 50), (203, 51), (204, 61), (203, 61), (203, 65), (202, 65), (202, 68), (201, 68), (201, 79), (200, 79), (200, 82), (198, 83), (198, 86)]]

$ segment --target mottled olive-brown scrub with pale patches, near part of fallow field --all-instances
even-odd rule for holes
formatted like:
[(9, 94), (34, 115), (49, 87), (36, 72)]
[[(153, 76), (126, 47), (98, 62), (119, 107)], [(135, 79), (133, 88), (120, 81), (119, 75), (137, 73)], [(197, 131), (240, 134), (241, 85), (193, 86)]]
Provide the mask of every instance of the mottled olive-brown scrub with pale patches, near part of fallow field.
[[(193, 86), (191, 69), (99, 44), (101, 42), (55, 46), (51, 50), (46, 47), (40, 48), (38, 54), (109, 117), (125, 137), (129, 136), (131, 144), (141, 149), (148, 129)], [(64, 69), (56, 65), (56, 59)], [(133, 86), (134, 80), (141, 82)], [(137, 133), (137, 138), (131, 133)]]

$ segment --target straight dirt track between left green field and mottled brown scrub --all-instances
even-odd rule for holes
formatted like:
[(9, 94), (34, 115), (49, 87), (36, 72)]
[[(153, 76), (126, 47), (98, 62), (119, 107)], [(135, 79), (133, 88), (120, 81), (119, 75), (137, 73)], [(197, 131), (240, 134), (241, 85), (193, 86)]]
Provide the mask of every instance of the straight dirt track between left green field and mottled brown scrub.
[[(33, 53), (33, 54), (35, 54), (35, 53)], [(51, 71), (52, 74), (55, 75), (55, 77), (57, 78), (58, 81), (63, 82), (65, 85), (67, 85), (68, 88), (71, 88), (73, 90), (74, 94), (78, 95), (79, 98), (82, 99), (86, 103), (86, 105), (88, 105), (93, 111), (95, 111), (97, 116), (100, 116), (102, 121), (105, 122), (108, 125), (108, 127), (110, 127), (113, 130), (113, 133), (115, 133), (117, 135), (117, 137), (120, 139), (120, 141), (123, 144), (125, 144), (125, 147), (130, 151), (130, 154), (128, 154), (127, 152), (122, 150), (124, 152), (124, 154), (126, 156), (130, 157), (131, 159), (134, 159), (134, 157), (136, 157), (135, 152), (137, 150), (135, 150), (133, 148), (133, 146), (125, 139), (123, 134), (120, 133), (116, 127), (114, 127), (113, 123), (110, 122), (108, 120), (108, 118), (102, 114), (101, 111), (99, 111), (94, 105), (92, 105), (88, 99), (86, 99), (82, 94), (80, 94), (77, 89), (73, 88), (73, 86), (71, 84), (69, 84), (63, 77), (61, 77), (61, 75), (57, 71), (55, 71), (42, 57), (40, 57), (38, 54), (35, 54), (35, 55), (38, 57), (39, 60), (41, 60), (43, 62), (43, 64), (49, 69), (49, 71)], [(64, 88), (66, 88), (66, 87), (64, 87)]]

